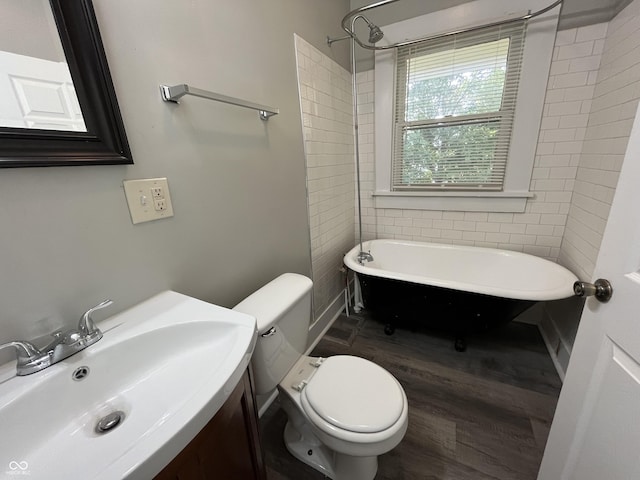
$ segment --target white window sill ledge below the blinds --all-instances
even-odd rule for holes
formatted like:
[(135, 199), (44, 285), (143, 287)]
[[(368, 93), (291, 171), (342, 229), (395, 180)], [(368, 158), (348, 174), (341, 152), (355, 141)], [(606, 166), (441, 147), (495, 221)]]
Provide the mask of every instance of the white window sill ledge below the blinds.
[(522, 213), (532, 192), (390, 192), (372, 194), (375, 208)]

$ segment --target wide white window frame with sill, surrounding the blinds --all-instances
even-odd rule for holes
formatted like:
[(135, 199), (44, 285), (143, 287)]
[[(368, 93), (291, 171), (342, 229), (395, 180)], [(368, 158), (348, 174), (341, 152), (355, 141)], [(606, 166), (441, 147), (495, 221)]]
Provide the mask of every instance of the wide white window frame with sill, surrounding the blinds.
[[(534, 3), (534, 5), (532, 5)], [(537, 10), (545, 1), (477, 0), (458, 7), (384, 27), (390, 43), (459, 30), (519, 16)], [(515, 11), (515, 12), (514, 12)], [(493, 12), (492, 16), (488, 16)], [(529, 191), (547, 81), (553, 55), (559, 8), (529, 21), (516, 100), (511, 144), (502, 191), (459, 190), (394, 191), (392, 155), (395, 128), (395, 49), (375, 55), (375, 191), (376, 208), (523, 212)], [(469, 18), (473, 24), (464, 23)]]

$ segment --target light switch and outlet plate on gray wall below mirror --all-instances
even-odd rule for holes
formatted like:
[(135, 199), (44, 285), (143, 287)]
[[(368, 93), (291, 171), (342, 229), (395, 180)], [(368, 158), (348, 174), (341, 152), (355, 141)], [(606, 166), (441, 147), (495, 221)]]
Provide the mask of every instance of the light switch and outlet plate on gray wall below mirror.
[(166, 178), (124, 180), (122, 184), (134, 224), (173, 217), (169, 183)]

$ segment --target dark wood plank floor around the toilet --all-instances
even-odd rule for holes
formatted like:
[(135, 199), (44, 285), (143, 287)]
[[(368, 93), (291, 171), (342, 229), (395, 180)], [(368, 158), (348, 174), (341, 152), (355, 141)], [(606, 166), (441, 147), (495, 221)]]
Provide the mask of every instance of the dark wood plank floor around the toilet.
[[(313, 355), (344, 353), (389, 370), (409, 401), (407, 434), (377, 479), (536, 478), (561, 382), (535, 326), (510, 323), (459, 353), (446, 335), (387, 336), (366, 315), (341, 316)], [(287, 452), (285, 423), (277, 400), (260, 420), (268, 478), (324, 478)]]

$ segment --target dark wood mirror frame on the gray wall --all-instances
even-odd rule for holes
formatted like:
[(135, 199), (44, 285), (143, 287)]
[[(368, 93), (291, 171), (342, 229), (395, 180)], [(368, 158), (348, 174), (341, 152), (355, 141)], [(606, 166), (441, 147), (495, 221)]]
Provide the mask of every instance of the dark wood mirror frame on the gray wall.
[(0, 127), (0, 168), (133, 163), (91, 0), (50, 0), (87, 132)]

